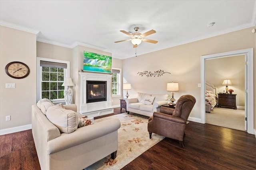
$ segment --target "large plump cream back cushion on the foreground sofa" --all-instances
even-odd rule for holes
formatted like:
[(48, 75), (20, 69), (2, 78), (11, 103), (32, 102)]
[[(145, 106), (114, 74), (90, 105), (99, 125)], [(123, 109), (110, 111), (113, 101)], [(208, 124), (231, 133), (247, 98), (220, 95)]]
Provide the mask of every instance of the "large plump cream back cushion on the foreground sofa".
[(60, 130), (60, 133), (72, 133), (78, 127), (78, 114), (75, 111), (51, 106), (46, 111), (46, 117)]

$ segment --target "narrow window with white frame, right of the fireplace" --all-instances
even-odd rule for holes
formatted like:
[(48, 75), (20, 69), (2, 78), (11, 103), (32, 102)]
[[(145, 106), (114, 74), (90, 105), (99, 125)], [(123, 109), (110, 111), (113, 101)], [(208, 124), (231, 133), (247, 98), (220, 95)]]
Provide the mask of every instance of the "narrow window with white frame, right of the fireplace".
[(112, 68), (112, 96), (121, 95), (121, 68)]

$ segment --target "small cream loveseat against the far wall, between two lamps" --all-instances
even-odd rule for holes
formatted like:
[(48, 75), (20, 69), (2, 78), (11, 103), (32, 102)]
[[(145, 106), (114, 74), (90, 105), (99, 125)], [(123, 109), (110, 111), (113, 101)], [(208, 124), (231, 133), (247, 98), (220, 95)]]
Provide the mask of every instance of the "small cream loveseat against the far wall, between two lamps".
[(159, 112), (160, 107), (167, 104), (168, 98), (168, 94), (138, 93), (137, 98), (126, 99), (126, 111), (150, 117), (154, 111)]

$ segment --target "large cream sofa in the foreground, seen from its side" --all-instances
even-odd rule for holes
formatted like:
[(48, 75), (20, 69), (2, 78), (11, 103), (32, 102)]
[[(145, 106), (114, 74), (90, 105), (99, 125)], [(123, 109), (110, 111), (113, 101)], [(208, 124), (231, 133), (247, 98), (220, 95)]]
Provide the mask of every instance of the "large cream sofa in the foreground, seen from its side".
[(64, 105), (65, 110), (60, 111), (58, 106), (48, 105), (32, 106), (32, 134), (42, 170), (82, 170), (110, 154), (116, 157), (119, 119), (77, 128), (80, 113), (75, 104)]

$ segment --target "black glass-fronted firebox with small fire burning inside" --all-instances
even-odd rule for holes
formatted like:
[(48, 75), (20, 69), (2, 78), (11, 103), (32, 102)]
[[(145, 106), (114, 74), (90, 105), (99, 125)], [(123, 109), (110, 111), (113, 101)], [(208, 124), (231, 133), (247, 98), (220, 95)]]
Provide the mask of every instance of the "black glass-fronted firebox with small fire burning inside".
[(86, 81), (86, 103), (107, 101), (106, 81)]

